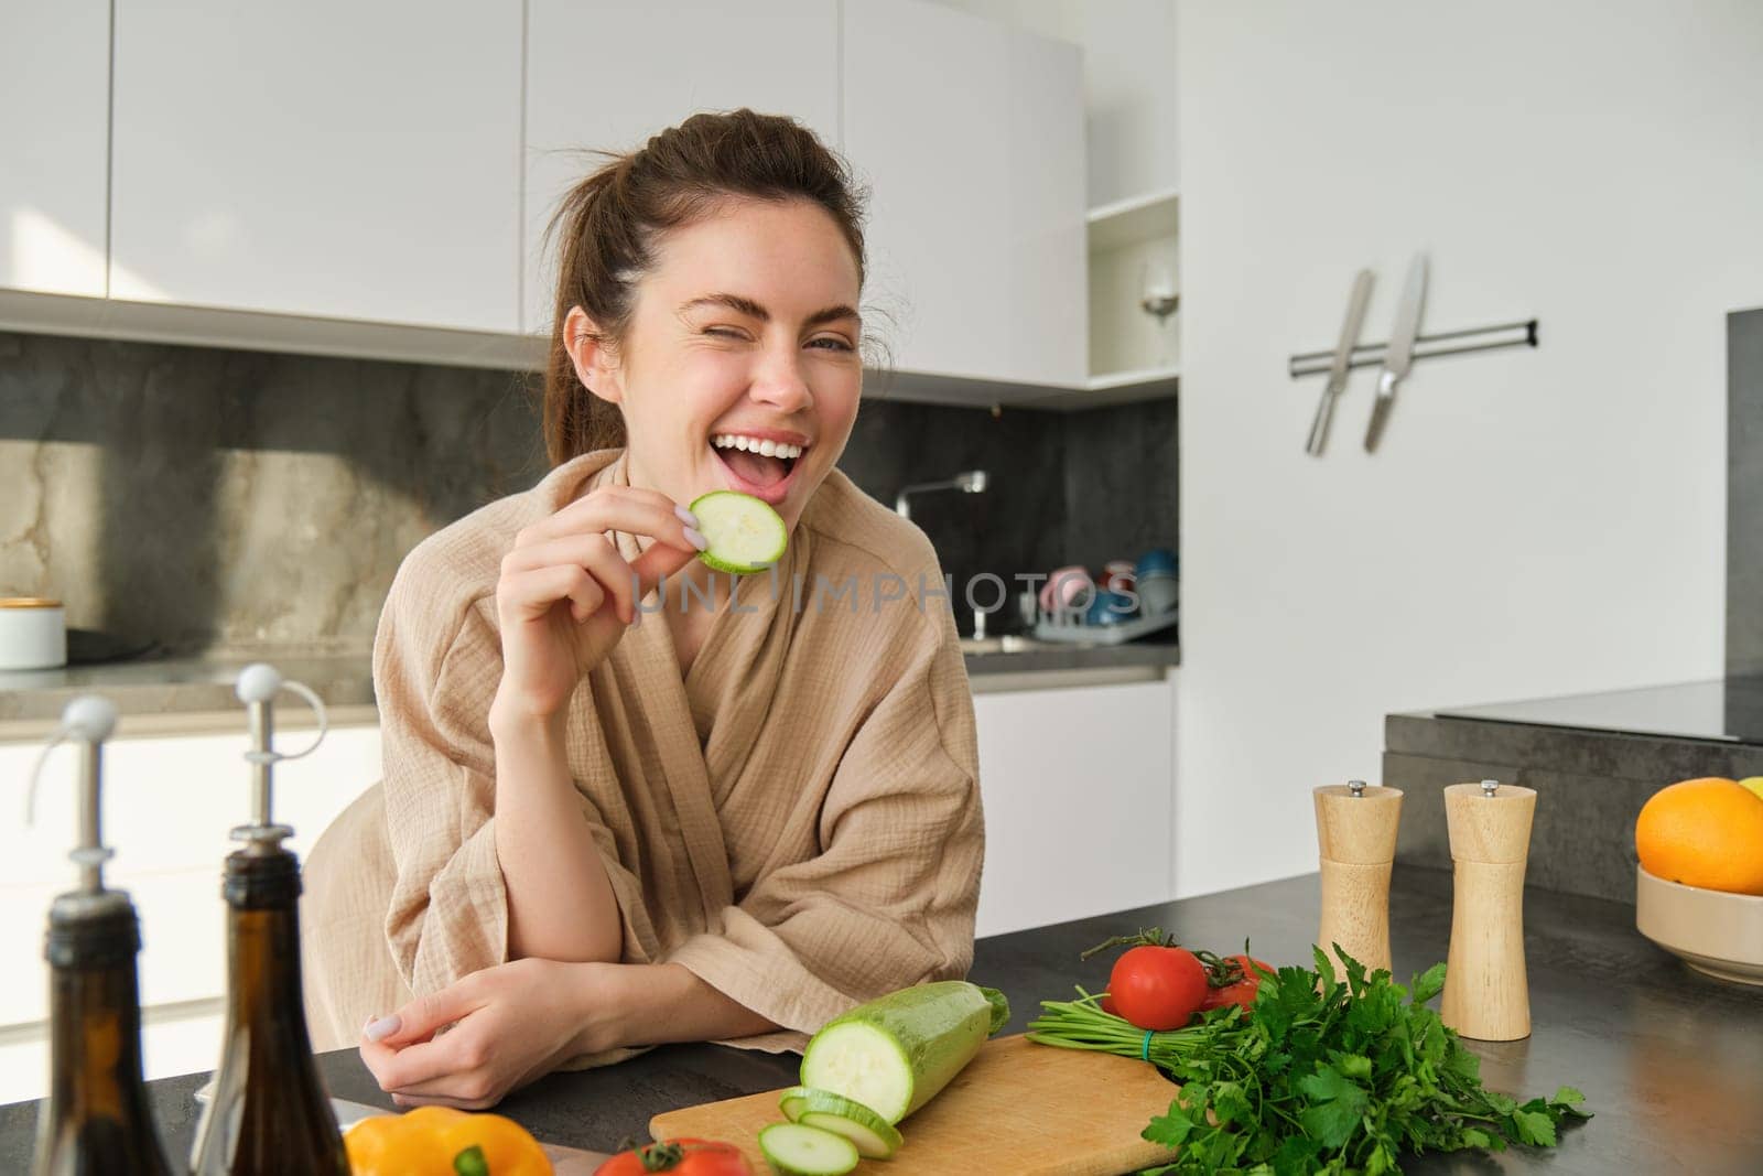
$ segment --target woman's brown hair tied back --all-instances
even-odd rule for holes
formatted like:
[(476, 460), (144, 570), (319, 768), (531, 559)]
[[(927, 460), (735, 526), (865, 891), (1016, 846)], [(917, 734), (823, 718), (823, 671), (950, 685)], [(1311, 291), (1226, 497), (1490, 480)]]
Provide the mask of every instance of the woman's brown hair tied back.
[(728, 197), (806, 199), (827, 210), (864, 280), (864, 201), (850, 166), (792, 118), (737, 109), (693, 115), (640, 150), (598, 152), (606, 162), (577, 183), (547, 240), (559, 236), (557, 307), (545, 365), (545, 451), (552, 465), (624, 444), (624, 416), (592, 395), (564, 346), (564, 319), (582, 307), (598, 342), (624, 342), (636, 284), (663, 233), (693, 224)]

